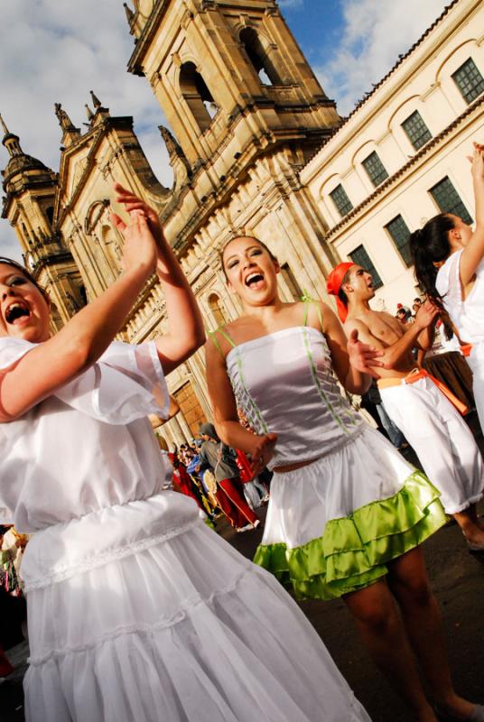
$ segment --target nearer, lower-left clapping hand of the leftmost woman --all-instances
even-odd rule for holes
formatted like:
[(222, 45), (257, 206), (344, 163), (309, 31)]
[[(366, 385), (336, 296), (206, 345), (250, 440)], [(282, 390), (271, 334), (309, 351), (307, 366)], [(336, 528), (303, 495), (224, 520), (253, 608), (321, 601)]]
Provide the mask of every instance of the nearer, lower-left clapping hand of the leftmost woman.
[(148, 221), (141, 211), (132, 211), (129, 224), (111, 215), (111, 221), (125, 239), (122, 265), (125, 271), (142, 265), (154, 273), (156, 270), (157, 248)]

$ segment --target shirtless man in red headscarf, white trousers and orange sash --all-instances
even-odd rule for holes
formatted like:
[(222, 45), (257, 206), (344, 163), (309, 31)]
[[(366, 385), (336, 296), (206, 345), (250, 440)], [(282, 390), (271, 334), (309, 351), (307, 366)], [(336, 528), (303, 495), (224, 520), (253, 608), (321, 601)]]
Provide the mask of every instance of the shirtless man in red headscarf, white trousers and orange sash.
[(476, 504), (484, 493), (484, 468), (467, 424), (427, 372), (414, 361), (413, 348), (432, 346), (439, 309), (425, 301), (407, 329), (384, 311), (372, 310), (371, 274), (357, 264), (340, 264), (328, 277), (340, 319), (349, 336), (383, 351), (378, 389), (385, 410), (414, 447), (427, 477), (442, 493), (442, 504), (461, 526), (470, 551), (484, 552), (484, 526)]

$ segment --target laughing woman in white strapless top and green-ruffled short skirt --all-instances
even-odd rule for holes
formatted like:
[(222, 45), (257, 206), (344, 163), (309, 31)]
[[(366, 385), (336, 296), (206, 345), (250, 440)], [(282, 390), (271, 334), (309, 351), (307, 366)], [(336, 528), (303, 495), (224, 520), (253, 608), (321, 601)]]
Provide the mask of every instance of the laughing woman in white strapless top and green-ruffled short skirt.
[[(222, 264), (245, 312), (207, 342), (215, 426), (221, 440), (255, 459), (255, 472), (266, 464), (275, 471), (256, 561), (299, 597), (342, 597), (414, 719), (436, 717), (411, 645), (440, 711), (484, 719), (484, 708), (452, 690), (418, 546), (444, 523), (438, 493), (362, 423), (333, 375), (363, 393), (378, 354), (357, 332), (348, 342), (324, 303), (281, 301), (279, 265), (256, 238), (229, 241)], [(256, 435), (239, 424), (237, 406)]]

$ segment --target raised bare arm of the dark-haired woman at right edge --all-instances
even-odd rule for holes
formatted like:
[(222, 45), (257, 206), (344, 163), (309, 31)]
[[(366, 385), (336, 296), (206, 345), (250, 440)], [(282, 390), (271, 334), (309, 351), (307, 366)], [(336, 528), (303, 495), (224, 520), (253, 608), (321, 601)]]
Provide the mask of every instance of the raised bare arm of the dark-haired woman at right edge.
[(476, 201), (476, 226), (461, 255), (460, 273), (463, 287), (471, 281), (484, 257), (484, 147), (476, 143), (474, 146), (470, 161)]

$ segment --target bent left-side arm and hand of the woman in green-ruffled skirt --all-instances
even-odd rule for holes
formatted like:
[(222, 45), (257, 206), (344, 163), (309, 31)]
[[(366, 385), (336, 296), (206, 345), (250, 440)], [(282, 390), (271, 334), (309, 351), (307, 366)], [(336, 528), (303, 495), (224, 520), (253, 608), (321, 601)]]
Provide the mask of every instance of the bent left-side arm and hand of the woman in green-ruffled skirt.
[(272, 458), (277, 436), (276, 434), (257, 436), (240, 424), (225, 359), (211, 338), (205, 344), (205, 358), (213, 422), (219, 439), (233, 449), (240, 449), (250, 454), (252, 471), (257, 474)]

